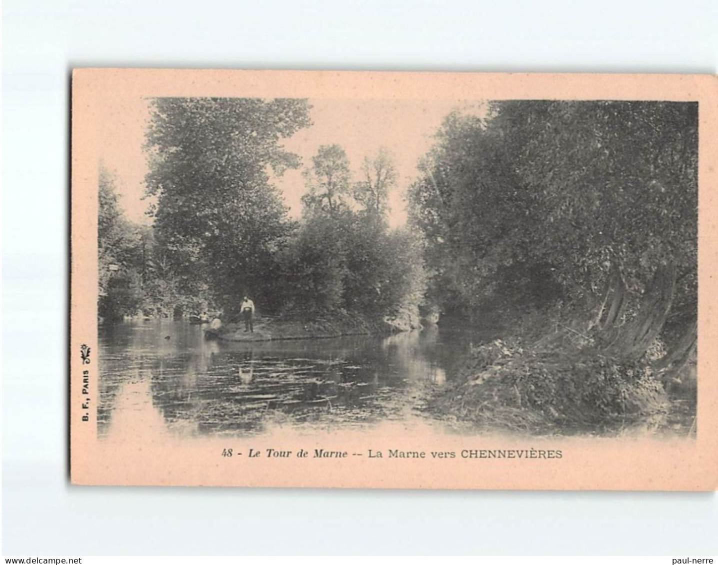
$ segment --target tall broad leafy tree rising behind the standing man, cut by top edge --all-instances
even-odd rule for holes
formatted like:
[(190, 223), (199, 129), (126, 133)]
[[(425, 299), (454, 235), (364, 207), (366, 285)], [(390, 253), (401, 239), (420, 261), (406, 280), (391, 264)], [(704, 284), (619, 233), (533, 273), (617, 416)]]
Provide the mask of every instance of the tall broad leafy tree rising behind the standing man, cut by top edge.
[(209, 283), (229, 310), (243, 293), (277, 307), (267, 282), (292, 224), (269, 170), (299, 167), (281, 139), (309, 123), (306, 100), (153, 100), (147, 194), (157, 196), (157, 239), (187, 293)]

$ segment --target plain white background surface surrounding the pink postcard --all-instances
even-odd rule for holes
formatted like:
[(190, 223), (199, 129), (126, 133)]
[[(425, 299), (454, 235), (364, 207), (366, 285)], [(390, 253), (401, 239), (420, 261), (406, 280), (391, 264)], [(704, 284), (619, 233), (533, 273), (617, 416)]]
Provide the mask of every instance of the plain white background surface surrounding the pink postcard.
[(2, 554), (718, 554), (706, 493), (70, 487), (66, 420), (71, 67), (715, 73), (718, 2), (6, 0), (2, 27)]

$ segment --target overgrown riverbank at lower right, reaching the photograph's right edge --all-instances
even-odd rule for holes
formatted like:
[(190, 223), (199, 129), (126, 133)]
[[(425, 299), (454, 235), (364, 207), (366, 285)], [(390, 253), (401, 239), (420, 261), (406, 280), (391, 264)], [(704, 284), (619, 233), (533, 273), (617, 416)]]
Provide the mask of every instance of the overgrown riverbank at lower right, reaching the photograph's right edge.
[(607, 356), (568, 329), (529, 343), (496, 340), (467, 353), (457, 378), (437, 391), (429, 410), (488, 431), (690, 435), (695, 360), (673, 386), (661, 381), (657, 360)]

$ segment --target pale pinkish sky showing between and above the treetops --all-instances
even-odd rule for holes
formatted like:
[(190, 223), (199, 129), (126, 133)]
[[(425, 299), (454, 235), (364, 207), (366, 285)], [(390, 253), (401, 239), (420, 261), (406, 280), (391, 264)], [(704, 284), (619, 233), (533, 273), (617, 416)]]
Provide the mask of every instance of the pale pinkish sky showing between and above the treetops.
[[(310, 99), (312, 125), (284, 140), (287, 150), (302, 158), (299, 169), (289, 170), (274, 179), (289, 215), (302, 213), (301, 198), (306, 191), (302, 170), (311, 165), (312, 156), (322, 145), (337, 143), (349, 158), (354, 180), (360, 179), (365, 156), (378, 148), (388, 149), (398, 171), (398, 184), (389, 194), (391, 227), (406, 222), (406, 188), (418, 175), (417, 164), (433, 143), (433, 136), (444, 117), (452, 110), (482, 113), (485, 105), (467, 100), (378, 100)], [(100, 149), (103, 165), (116, 175), (120, 203), (132, 222), (149, 224), (146, 210), (151, 199), (143, 199), (147, 173), (143, 151), (144, 134), (149, 123), (149, 100), (124, 99), (109, 109), (103, 120)]]

